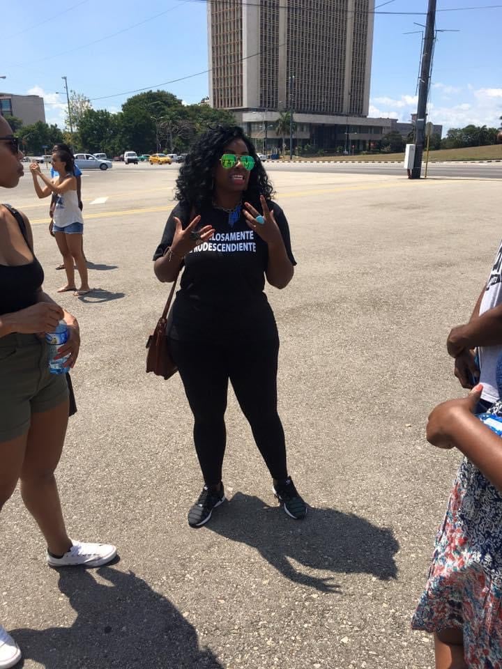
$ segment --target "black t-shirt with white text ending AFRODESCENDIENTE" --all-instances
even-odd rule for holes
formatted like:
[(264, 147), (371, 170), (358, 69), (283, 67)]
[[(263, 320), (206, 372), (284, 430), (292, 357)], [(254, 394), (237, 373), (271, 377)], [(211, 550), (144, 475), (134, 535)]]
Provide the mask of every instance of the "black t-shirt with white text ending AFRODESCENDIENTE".
[[(280, 229), (291, 263), (296, 265), (289, 226), (280, 206), (268, 203)], [(178, 203), (172, 210), (153, 260), (160, 258), (172, 244), (178, 217), (185, 228), (190, 206)], [(185, 256), (180, 290), (169, 317), (169, 337), (179, 340), (214, 342), (234, 341), (243, 336), (250, 340), (277, 337), (272, 309), (264, 293), (268, 246), (248, 226), (244, 215), (229, 225), (227, 212), (206, 206), (199, 212), (200, 229), (212, 225), (211, 240), (195, 247)]]

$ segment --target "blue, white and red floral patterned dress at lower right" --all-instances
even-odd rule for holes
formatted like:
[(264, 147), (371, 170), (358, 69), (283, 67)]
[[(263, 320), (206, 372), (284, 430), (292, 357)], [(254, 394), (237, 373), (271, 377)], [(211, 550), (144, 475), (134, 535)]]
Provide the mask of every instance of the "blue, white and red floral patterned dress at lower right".
[[(500, 417), (502, 402), (489, 413)], [(469, 669), (502, 669), (502, 495), (466, 458), (411, 626), (462, 629)]]

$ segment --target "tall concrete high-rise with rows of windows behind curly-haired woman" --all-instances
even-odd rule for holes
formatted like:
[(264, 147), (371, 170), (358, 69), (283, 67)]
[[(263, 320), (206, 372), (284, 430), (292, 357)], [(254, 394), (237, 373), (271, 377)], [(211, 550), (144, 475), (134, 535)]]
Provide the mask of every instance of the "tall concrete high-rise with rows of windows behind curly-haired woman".
[[(292, 110), (294, 144), (370, 149), (390, 119), (367, 118), (374, 0), (208, 2), (209, 100), (265, 152)], [(289, 132), (288, 132), (289, 141)]]

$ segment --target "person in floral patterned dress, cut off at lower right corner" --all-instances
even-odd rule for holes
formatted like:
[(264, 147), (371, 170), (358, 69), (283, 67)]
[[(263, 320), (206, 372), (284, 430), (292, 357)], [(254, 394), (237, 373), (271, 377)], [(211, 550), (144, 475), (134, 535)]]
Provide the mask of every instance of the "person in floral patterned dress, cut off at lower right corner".
[[(502, 441), (473, 414), (481, 392), (439, 404), (427, 424), (430, 443), (465, 456), (412, 620), (434, 633), (436, 669), (502, 667)], [(489, 412), (502, 416), (502, 401)]]

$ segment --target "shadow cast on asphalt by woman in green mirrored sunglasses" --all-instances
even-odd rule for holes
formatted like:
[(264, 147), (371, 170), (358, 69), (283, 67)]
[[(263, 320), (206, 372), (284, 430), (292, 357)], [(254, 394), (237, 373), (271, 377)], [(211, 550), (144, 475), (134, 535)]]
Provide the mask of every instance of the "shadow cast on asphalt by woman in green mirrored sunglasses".
[(304, 521), (294, 521), (278, 505), (268, 507), (257, 497), (236, 493), (214, 512), (207, 528), (256, 548), (286, 578), (323, 592), (340, 592), (340, 585), (331, 583), (331, 577), (305, 574), (291, 560), (306, 569), (397, 577), (399, 544), (392, 530), (355, 514), (309, 507)]

